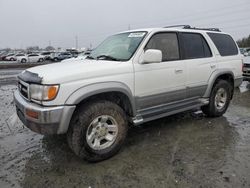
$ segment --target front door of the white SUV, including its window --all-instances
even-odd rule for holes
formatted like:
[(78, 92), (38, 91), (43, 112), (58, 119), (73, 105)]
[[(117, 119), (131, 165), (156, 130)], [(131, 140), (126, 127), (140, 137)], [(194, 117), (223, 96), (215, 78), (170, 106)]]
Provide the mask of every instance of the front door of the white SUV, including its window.
[(138, 109), (147, 109), (186, 98), (186, 65), (180, 60), (178, 35), (154, 34), (147, 49), (162, 51), (162, 62), (135, 63), (135, 95)]

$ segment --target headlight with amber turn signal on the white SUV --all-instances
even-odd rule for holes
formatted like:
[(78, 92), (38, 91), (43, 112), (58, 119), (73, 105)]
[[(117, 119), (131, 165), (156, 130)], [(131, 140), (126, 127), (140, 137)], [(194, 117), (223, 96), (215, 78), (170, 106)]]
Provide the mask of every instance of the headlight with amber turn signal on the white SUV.
[(39, 101), (51, 101), (55, 99), (59, 85), (30, 85), (30, 97)]

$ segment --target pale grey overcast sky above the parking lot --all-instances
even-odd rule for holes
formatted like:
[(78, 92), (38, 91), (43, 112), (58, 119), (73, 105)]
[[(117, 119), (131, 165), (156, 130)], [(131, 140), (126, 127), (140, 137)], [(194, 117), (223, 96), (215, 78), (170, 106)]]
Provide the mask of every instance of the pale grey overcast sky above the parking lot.
[(175, 24), (250, 34), (249, 0), (0, 0), (0, 48), (96, 46), (123, 30)]

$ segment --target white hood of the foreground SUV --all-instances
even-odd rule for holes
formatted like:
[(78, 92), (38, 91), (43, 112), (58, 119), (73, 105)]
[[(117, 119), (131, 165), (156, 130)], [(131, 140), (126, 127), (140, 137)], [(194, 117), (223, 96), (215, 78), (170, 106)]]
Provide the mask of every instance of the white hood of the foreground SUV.
[[(25, 75), (26, 81), (29, 79), (29, 75), (36, 75), (42, 84), (61, 84), (80, 79), (131, 72), (132, 68), (125, 68), (129, 65), (132, 67), (132, 63), (129, 62), (85, 59), (29, 68), (22, 75)], [(22, 75), (19, 78), (22, 79)], [(34, 78), (31, 79), (34, 80)]]

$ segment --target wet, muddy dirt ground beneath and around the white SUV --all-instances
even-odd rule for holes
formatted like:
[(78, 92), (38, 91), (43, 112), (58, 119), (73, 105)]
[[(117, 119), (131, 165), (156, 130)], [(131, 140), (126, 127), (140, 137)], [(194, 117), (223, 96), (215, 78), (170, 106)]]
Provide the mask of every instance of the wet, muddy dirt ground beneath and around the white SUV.
[(131, 128), (118, 155), (91, 164), (64, 136), (13, 125), (15, 89), (0, 85), (1, 188), (250, 187), (250, 91), (236, 90), (220, 118), (188, 112)]

